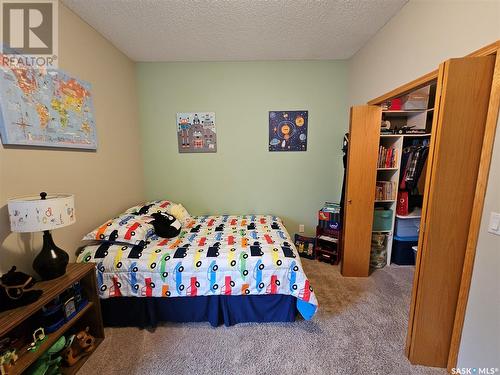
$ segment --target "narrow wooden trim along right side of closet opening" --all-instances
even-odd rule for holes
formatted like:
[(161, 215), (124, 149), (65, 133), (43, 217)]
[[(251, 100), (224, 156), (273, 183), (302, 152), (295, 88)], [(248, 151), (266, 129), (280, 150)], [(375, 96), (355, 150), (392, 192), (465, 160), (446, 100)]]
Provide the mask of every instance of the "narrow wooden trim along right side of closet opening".
[(448, 355), (448, 371), (450, 372), (452, 368), (456, 367), (458, 360), (458, 351), (460, 349), (460, 341), (462, 338), (467, 301), (469, 298), (469, 290), (472, 281), (472, 271), (474, 268), (474, 259), (476, 256), (477, 241), (479, 238), (479, 229), (481, 226), (481, 218), (483, 215), (484, 199), (486, 196), (486, 188), (488, 185), (488, 176), (490, 172), (491, 157), (493, 153), (493, 145), (495, 141), (495, 133), (498, 121), (498, 111), (500, 107), (500, 56), (498, 54), (498, 49), (495, 51), (495, 54), (495, 70), (493, 73), (488, 114), (486, 117), (483, 147), (481, 150), (476, 192), (474, 196), (474, 205), (472, 207), (471, 224), (469, 228), (469, 236), (467, 238), (462, 279), (460, 282), (457, 309), (455, 312), (455, 322), (453, 326), (450, 352)]

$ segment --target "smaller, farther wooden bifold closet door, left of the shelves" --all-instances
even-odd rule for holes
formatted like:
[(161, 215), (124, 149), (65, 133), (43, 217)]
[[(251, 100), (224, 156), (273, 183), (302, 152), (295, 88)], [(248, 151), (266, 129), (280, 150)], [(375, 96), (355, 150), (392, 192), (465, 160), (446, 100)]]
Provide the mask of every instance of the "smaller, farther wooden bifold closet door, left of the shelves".
[(351, 108), (343, 229), (343, 276), (368, 276), (382, 110)]

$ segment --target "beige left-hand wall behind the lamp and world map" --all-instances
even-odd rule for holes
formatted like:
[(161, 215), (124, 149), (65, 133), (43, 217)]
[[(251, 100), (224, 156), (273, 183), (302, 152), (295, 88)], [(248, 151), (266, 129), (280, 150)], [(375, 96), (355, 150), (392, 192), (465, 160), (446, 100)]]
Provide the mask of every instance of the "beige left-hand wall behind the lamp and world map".
[(0, 145), (0, 273), (12, 265), (32, 273), (42, 248), (41, 233), (10, 232), (8, 198), (75, 194), (76, 224), (53, 232), (70, 260), (86, 233), (144, 199), (134, 62), (60, 4), (59, 67), (92, 84), (99, 146), (85, 152)]

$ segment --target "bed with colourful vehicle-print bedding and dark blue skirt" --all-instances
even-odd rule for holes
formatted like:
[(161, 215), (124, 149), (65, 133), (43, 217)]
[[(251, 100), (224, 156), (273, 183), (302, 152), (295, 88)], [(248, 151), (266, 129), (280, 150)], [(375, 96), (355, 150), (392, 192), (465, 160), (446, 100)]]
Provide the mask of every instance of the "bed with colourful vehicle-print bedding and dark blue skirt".
[[(150, 209), (165, 209), (164, 202), (155, 201)], [(142, 210), (129, 209), (96, 229), (90, 237), (104, 240), (85, 246), (77, 258), (96, 263), (106, 325), (230, 326), (315, 314), (316, 296), (280, 218), (188, 216), (180, 234), (167, 239), (147, 227), (148, 210)], [(118, 241), (116, 230), (114, 237), (103, 236), (112, 222), (120, 223), (128, 242)], [(144, 239), (130, 238), (140, 229)]]

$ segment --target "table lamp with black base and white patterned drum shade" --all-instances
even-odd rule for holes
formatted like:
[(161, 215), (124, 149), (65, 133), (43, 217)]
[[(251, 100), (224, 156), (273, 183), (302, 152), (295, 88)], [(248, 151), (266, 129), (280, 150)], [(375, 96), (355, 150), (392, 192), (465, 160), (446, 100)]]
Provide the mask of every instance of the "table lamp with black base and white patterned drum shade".
[(42, 232), (43, 247), (33, 261), (33, 269), (43, 280), (51, 280), (66, 273), (68, 254), (52, 240), (52, 229), (71, 225), (75, 218), (75, 199), (72, 194), (40, 193), (7, 201), (12, 232)]

